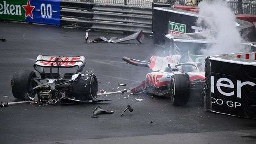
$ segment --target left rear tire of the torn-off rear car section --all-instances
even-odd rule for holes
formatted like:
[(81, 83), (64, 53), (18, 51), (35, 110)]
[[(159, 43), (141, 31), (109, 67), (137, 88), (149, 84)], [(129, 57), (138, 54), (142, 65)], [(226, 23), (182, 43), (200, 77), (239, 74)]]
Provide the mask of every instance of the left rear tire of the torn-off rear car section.
[[(33, 71), (20, 70), (15, 72), (12, 80), (12, 94), (16, 99), (26, 100), (26, 95), (31, 92), (36, 83), (33, 81), (36, 78), (36, 73)], [(30, 93), (30, 97), (35, 97), (36, 92)]]

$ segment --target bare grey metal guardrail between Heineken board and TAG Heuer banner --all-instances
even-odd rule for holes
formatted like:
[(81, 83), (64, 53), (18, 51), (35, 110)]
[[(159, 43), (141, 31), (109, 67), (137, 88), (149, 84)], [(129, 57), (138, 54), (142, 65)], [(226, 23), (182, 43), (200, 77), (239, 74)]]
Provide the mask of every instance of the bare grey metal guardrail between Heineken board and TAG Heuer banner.
[(152, 9), (61, 1), (61, 26), (152, 33)]

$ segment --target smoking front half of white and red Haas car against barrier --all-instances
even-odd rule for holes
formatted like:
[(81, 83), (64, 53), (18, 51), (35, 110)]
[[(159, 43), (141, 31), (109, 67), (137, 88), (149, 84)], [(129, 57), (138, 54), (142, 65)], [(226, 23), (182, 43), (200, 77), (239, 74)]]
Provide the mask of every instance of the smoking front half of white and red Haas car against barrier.
[(146, 80), (131, 88), (131, 92), (147, 91), (158, 96), (167, 94), (171, 97), (172, 104), (176, 106), (187, 104), (191, 90), (199, 90), (203, 93), (204, 59), (204, 56), (190, 54), (152, 56), (150, 62), (123, 57), (123, 60), (129, 64), (145, 66), (154, 71), (147, 73)]

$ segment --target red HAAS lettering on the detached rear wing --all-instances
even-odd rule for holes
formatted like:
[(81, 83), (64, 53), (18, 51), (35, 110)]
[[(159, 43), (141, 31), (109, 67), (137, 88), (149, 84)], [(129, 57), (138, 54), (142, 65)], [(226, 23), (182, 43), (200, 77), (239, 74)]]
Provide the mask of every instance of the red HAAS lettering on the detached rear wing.
[[(73, 66), (74, 64), (76, 64), (76, 61), (78, 61), (80, 58), (79, 57), (72, 57), (69, 60), (69, 57), (51, 57), (48, 61), (40, 61), (41, 64), (45, 65), (45, 66), (51, 66), (52, 64), (54, 66), (57, 65), (56, 59), (58, 59), (58, 64), (59, 66)], [(54, 61), (54, 62), (52, 62)]]

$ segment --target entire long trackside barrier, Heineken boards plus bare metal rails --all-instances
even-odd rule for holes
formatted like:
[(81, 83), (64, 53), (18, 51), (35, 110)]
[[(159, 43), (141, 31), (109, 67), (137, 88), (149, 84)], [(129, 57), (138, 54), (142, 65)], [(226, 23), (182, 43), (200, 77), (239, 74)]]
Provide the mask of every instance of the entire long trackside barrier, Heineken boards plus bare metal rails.
[(0, 0), (0, 20), (152, 33), (152, 9), (67, 0)]

